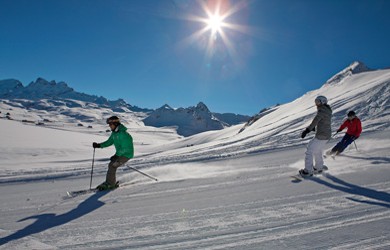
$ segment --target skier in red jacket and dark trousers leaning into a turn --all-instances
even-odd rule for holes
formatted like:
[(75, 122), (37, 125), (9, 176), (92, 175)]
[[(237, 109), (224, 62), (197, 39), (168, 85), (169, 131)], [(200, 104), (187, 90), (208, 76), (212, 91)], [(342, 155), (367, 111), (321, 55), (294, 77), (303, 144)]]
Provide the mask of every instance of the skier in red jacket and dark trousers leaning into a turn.
[(348, 119), (341, 124), (340, 128), (337, 130), (337, 133), (343, 131), (343, 129), (347, 128), (347, 132), (345, 133), (343, 139), (339, 143), (336, 144), (328, 152), (329, 155), (332, 154), (340, 154), (343, 152), (354, 140), (359, 138), (360, 134), (362, 133), (362, 123), (360, 122), (360, 119), (356, 116), (356, 113), (354, 111), (349, 111)]

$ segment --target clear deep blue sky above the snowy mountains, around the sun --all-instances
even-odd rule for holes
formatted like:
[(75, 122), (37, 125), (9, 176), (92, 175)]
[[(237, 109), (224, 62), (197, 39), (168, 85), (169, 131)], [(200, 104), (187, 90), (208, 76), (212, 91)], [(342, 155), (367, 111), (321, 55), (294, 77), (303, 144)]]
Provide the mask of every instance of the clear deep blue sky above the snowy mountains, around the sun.
[[(206, 29), (206, 10), (225, 15)], [(0, 0), (0, 79), (253, 115), (353, 61), (390, 66), (390, 1)]]

